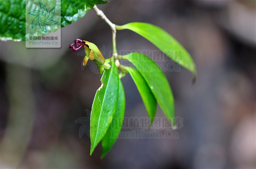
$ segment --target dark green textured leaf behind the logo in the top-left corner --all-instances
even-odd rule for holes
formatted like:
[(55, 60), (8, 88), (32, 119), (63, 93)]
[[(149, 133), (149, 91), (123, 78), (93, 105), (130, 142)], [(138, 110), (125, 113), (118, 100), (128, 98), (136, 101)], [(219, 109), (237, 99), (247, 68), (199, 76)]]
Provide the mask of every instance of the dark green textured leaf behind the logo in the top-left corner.
[[(50, 0), (44, 1), (49, 3)], [(61, 0), (61, 27), (69, 25), (83, 17), (94, 5), (106, 4), (104, 0)], [(45, 4), (46, 5), (46, 4)], [(39, 10), (47, 11), (45, 5), (41, 5)], [(47, 5), (46, 5), (47, 6)], [(26, 6), (26, 0), (1, 0), (0, 4), (0, 39), (25, 41), (26, 27), (31, 23), (26, 23), (26, 8), (33, 11), (32, 5)], [(56, 7), (54, 10), (57, 10)], [(48, 11), (47, 11), (48, 12)], [(46, 13), (49, 15), (48, 13)], [(36, 16), (36, 11), (31, 13)], [(52, 13), (50, 13), (51, 17)], [(49, 32), (48, 32), (49, 33)]]

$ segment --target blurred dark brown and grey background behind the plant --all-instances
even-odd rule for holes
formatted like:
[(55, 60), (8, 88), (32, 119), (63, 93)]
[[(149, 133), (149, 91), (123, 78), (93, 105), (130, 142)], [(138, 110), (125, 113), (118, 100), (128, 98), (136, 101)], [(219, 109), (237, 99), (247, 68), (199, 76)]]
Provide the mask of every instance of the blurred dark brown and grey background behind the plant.
[[(185, 68), (165, 72), (176, 116), (183, 118), (175, 130), (179, 138), (118, 139), (103, 160), (101, 144), (89, 156), (90, 138), (79, 137), (75, 120), (91, 110), (101, 74), (82, 70), (83, 56), (68, 44), (79, 38), (105, 46), (109, 58), (111, 30), (91, 10), (61, 29), (61, 48), (1, 41), (1, 168), (256, 168), (255, 1), (111, 0), (98, 8), (114, 24), (157, 25), (191, 54), (195, 84)], [(157, 47), (123, 30), (117, 31), (117, 50)], [(122, 82), (125, 117), (147, 116), (131, 76)], [(159, 107), (156, 116), (164, 117)]]

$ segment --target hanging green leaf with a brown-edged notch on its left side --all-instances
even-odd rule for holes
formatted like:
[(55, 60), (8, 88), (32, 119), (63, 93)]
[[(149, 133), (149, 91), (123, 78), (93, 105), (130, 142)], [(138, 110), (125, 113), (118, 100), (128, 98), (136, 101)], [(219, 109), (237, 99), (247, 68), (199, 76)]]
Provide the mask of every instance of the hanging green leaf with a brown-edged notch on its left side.
[(110, 65), (111, 68), (105, 70), (102, 75), (102, 86), (97, 90), (93, 101), (90, 119), (90, 155), (106, 134), (117, 106), (119, 88), (118, 69), (114, 62), (110, 62)]

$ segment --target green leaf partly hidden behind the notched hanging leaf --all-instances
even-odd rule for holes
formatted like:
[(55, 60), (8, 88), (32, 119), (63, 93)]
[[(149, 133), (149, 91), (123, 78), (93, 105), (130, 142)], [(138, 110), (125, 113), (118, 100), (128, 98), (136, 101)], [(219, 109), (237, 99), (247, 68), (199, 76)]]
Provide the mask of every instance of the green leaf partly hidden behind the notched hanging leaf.
[(117, 102), (116, 112), (114, 114), (113, 121), (110, 124), (107, 133), (101, 140), (102, 149), (103, 149), (101, 158), (105, 157), (105, 155), (109, 152), (109, 150), (112, 148), (112, 146), (117, 140), (117, 137), (123, 125), (124, 110), (125, 110), (124, 87), (121, 80), (119, 79), (119, 91), (118, 91), (118, 102)]

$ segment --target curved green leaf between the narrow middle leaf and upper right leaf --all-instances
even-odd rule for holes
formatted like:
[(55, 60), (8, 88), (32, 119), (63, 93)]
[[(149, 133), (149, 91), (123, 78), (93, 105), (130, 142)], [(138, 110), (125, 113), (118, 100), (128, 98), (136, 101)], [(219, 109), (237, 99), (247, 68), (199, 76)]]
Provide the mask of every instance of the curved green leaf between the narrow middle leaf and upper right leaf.
[(129, 60), (139, 70), (157, 99), (163, 113), (175, 126), (173, 93), (165, 74), (163, 74), (159, 66), (153, 60), (140, 53), (130, 53), (123, 57), (118, 56), (118, 58)]

